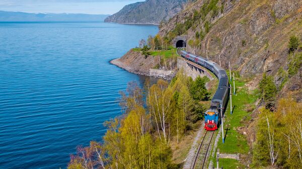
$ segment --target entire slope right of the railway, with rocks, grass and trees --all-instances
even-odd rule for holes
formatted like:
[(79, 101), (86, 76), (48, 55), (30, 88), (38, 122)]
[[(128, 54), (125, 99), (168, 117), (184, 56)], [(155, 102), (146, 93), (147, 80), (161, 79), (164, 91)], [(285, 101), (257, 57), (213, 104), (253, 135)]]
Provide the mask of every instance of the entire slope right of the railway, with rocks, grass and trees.
[(168, 41), (187, 36), (189, 52), (216, 63), (220, 56), (225, 69), (230, 61), (244, 80), (235, 114), (226, 118), (231, 133), (218, 143), (221, 152), (243, 159), (223, 159), (223, 166), (302, 165), (302, 1), (198, 0), (160, 28)]

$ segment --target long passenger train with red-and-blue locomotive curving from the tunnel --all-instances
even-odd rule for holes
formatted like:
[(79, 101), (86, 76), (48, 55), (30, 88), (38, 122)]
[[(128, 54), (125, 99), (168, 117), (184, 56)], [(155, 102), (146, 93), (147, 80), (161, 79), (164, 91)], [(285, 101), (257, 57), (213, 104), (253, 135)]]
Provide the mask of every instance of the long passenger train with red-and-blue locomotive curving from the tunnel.
[(218, 78), (219, 83), (211, 100), (211, 106), (204, 112), (204, 128), (209, 131), (217, 130), (221, 123), (221, 117), (225, 112), (225, 107), (228, 105), (229, 101), (230, 84), (228, 75), (221, 66), (211, 60), (180, 50), (180, 48), (178, 49), (178, 54), (181, 57), (208, 69)]

